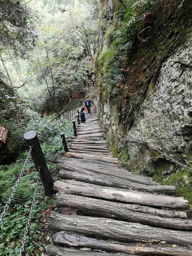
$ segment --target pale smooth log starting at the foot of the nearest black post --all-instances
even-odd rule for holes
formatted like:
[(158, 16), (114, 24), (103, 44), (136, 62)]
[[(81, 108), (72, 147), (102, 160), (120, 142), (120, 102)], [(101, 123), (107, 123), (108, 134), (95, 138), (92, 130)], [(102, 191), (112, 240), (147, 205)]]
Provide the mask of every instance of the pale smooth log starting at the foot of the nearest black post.
[(183, 197), (171, 197), (159, 194), (149, 194), (140, 191), (123, 191), (118, 188), (109, 188), (99, 185), (97, 188), (90, 184), (89, 187), (68, 185), (64, 182), (56, 181), (53, 183), (55, 190), (64, 191), (70, 194), (79, 194), (98, 198), (108, 198), (128, 203), (139, 203), (144, 205), (155, 205), (167, 208), (186, 208), (188, 201)]

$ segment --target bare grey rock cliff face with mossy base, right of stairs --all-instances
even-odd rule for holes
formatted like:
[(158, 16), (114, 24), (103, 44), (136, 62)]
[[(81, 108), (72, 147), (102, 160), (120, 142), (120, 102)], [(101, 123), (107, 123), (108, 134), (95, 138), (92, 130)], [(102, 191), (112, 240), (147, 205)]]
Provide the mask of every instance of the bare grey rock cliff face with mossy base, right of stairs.
[[(111, 3), (108, 4), (112, 10)], [(109, 21), (105, 24), (109, 26)], [(98, 40), (100, 50), (103, 37), (104, 33)], [(126, 125), (126, 116), (122, 116), (122, 109), (125, 113), (130, 104), (126, 101), (113, 104), (112, 97), (104, 100), (99, 83), (95, 98), (104, 123), (120, 137), (146, 141), (167, 156), (145, 143), (125, 142), (104, 127), (114, 155), (134, 173), (153, 176), (161, 184), (177, 185), (177, 195), (192, 202), (192, 170), (182, 169), (169, 158), (192, 167), (192, 37), (173, 49), (161, 63), (155, 82), (150, 80), (145, 98), (134, 111), (131, 127)]]

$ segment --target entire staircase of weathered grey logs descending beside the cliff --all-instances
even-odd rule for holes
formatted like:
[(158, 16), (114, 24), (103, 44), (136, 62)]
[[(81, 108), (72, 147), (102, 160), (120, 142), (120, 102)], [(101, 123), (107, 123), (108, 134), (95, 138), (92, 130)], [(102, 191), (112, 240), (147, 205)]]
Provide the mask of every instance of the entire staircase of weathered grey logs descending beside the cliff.
[(47, 159), (57, 163), (61, 179), (54, 183), (56, 205), (63, 211), (50, 216), (48, 227), (58, 233), (46, 254), (192, 255), (188, 201), (174, 196), (175, 186), (122, 167), (107, 145), (94, 107), (85, 117), (69, 152)]

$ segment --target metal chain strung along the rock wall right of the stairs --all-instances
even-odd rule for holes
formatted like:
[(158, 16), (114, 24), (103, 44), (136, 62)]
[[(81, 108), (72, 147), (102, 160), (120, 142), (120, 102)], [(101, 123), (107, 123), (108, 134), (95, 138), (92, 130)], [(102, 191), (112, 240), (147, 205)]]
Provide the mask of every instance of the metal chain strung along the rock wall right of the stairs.
[[(97, 110), (98, 110), (98, 107), (97, 107), (96, 104), (95, 104), (95, 107), (96, 107)], [(101, 116), (101, 112), (100, 112), (99, 110), (98, 110), (98, 112), (100, 113), (100, 116)], [(108, 128), (108, 129), (110, 129), (119, 139), (125, 140), (125, 141), (128, 141), (128, 142), (134, 142), (134, 143), (144, 143), (144, 144), (148, 145), (149, 148), (151, 148), (151, 149), (157, 151), (157, 152), (160, 153), (161, 155), (164, 155), (166, 158), (170, 159), (172, 162), (174, 162), (174, 163), (176, 163), (176, 164), (179, 164), (179, 165), (183, 166), (184, 168), (187, 168), (188, 170), (191, 170), (191, 168), (188, 167), (187, 165), (180, 163), (180, 162), (177, 161), (176, 159), (174, 159), (174, 158), (170, 157), (169, 155), (165, 154), (165, 153), (164, 153), (163, 151), (161, 151), (160, 149), (157, 149), (155, 146), (149, 144), (149, 142), (147, 142), (147, 141), (144, 141), (144, 140), (130, 140), (130, 139), (128, 140), (128, 139), (124, 139), (124, 138), (120, 137), (119, 135), (117, 135), (117, 134), (113, 131), (112, 128), (110, 128), (110, 127), (108, 127), (107, 125), (105, 125), (102, 116), (101, 116), (101, 120), (102, 120), (104, 126), (105, 126), (106, 128)]]

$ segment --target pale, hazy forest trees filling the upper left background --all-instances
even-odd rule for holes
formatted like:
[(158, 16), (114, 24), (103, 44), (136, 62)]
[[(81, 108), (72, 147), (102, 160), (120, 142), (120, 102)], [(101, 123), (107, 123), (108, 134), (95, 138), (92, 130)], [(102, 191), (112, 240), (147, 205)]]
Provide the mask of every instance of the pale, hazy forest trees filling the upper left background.
[(84, 70), (91, 68), (96, 51), (99, 3), (10, 0), (0, 5), (0, 76), (10, 91), (43, 113), (59, 113), (72, 93), (83, 97)]

